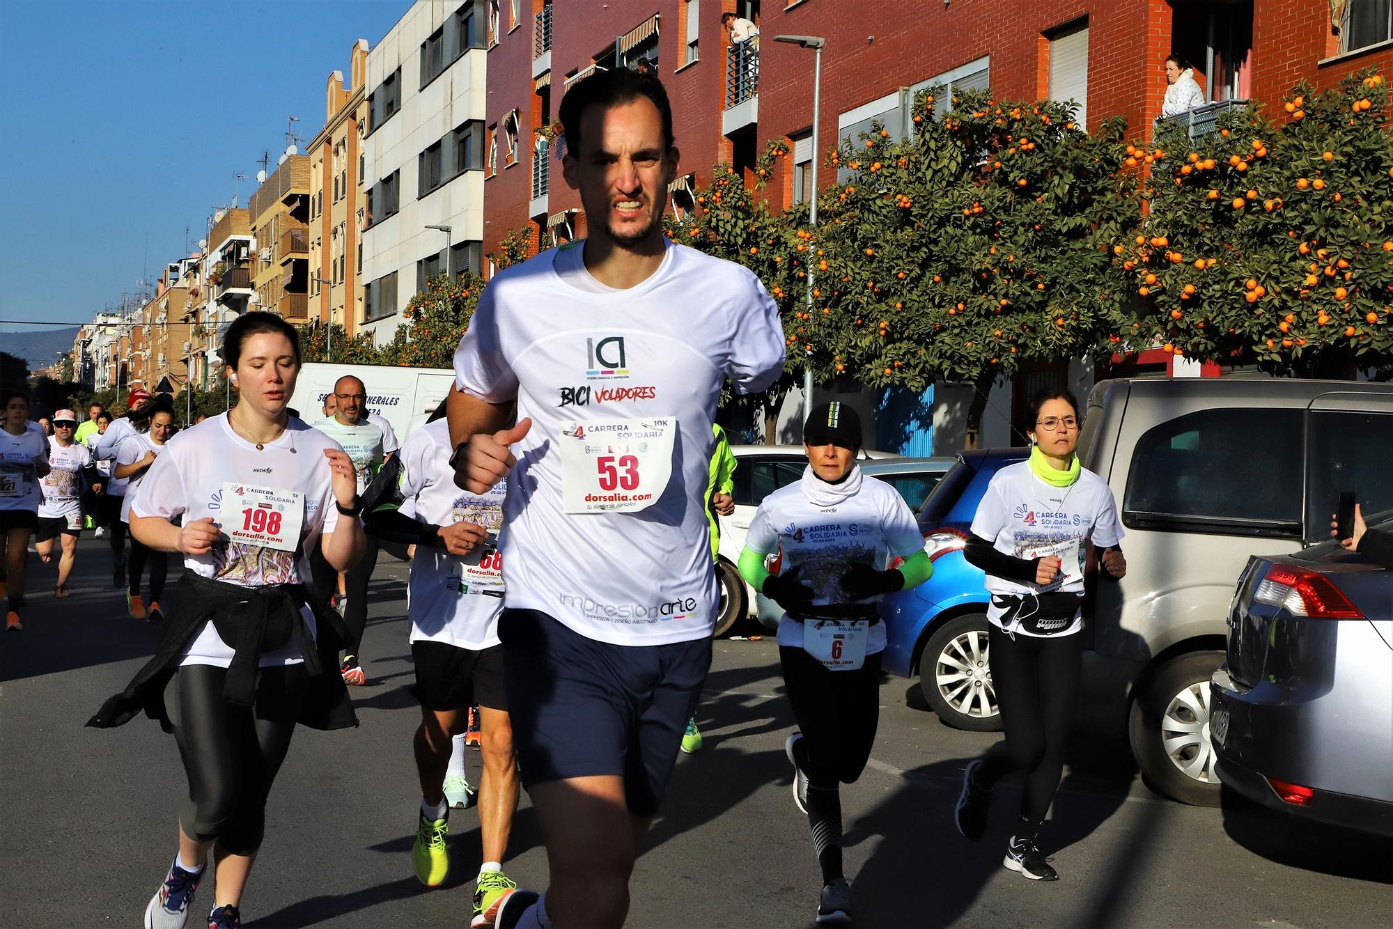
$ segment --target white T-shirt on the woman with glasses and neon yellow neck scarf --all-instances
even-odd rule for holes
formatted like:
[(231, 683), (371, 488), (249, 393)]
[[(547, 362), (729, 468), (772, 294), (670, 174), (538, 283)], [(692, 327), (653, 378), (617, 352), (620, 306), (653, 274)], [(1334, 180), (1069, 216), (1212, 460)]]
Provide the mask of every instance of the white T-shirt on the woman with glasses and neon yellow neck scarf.
[[(1028, 461), (1007, 465), (992, 476), (972, 518), (972, 535), (993, 540), (997, 552), (1017, 559), (1059, 556), (1063, 581), (1049, 586), (986, 575), (988, 593), (1011, 596), (1042, 592), (1081, 595), (1089, 543), (1106, 549), (1123, 540), (1117, 501), (1106, 481), (1081, 468), (1073, 485), (1055, 487), (1036, 478)], [(986, 618), (997, 628), (1006, 628), (1003, 613), (995, 603), (988, 604)], [(1067, 630), (1050, 638), (1073, 635), (1082, 628), (1082, 613), (1077, 613)], [(1011, 631), (1032, 635), (1020, 624), (1013, 624)]]

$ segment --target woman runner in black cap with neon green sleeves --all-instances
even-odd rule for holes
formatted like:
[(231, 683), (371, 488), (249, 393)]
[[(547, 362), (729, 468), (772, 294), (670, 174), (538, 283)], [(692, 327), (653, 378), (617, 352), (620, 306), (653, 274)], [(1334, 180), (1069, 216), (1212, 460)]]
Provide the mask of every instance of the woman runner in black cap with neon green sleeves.
[(786, 610), (779, 662), (798, 723), (784, 745), (794, 802), (808, 815), (822, 868), (818, 922), (847, 923), (851, 886), (841, 872), (839, 783), (861, 776), (880, 716), (886, 637), (876, 600), (922, 584), (933, 565), (910, 507), (857, 467), (855, 411), (839, 401), (814, 408), (802, 442), (808, 468), (798, 483), (759, 504), (740, 572)]

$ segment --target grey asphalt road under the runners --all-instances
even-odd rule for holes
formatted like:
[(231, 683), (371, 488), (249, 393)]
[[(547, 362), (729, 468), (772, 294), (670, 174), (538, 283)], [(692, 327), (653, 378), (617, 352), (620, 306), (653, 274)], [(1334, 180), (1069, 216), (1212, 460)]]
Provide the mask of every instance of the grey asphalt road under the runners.
[[(0, 926), (138, 926), (176, 850), (178, 754), (145, 719), (107, 731), (82, 724), (152, 653), (157, 631), (125, 616), (104, 542), (79, 545), (67, 600), (53, 598), (53, 567), (33, 556), (31, 577), (25, 631), (0, 634)], [(361, 727), (295, 737), (244, 898), (248, 928), (468, 925), (479, 865), (472, 811), (451, 819), (444, 887), (428, 891), (411, 869), (418, 713), (404, 578), (405, 565), (384, 557), (373, 579), (369, 682), (354, 691)], [(772, 638), (716, 643), (698, 716), (706, 747), (677, 766), (634, 873), (630, 926), (812, 923), (818, 869), (790, 797), (781, 692)], [(1000, 864), (1015, 783), (999, 788), (981, 844), (951, 826), (961, 767), (995, 737), (942, 726), (911, 681), (886, 678), (880, 695), (872, 760), (843, 790), (859, 926), (1393, 922), (1393, 843), (1237, 802), (1160, 799), (1121, 747), (1084, 734), (1046, 825), (1060, 880), (1024, 880)], [(478, 758), (469, 763), (472, 776)], [(546, 880), (525, 797), (506, 868), (524, 886)], [(210, 898), (205, 889), (196, 916)]]

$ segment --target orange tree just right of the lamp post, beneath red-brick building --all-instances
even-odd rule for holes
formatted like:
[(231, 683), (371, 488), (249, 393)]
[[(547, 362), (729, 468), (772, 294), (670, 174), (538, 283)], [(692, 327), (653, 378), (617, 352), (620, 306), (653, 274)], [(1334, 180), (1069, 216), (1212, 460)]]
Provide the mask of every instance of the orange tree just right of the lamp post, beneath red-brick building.
[(1110, 351), (1130, 326), (1107, 248), (1135, 227), (1137, 185), (1120, 118), (1089, 136), (1064, 103), (942, 97), (917, 95), (904, 139), (876, 125), (830, 155), (797, 337), (819, 382), (971, 380), (976, 430), (996, 377)]

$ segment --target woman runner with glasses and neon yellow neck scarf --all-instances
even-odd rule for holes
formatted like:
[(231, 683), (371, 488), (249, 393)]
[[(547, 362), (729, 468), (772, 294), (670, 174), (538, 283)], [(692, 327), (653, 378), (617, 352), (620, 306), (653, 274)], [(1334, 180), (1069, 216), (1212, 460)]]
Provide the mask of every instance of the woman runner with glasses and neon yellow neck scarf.
[(1031, 457), (992, 478), (964, 550), (986, 572), (988, 653), (1006, 738), (964, 769), (954, 820), (964, 837), (981, 838), (992, 786), (1025, 772), (1002, 864), (1031, 880), (1059, 879), (1038, 836), (1059, 790), (1078, 695), (1088, 549), (1102, 553), (1103, 577), (1127, 572), (1113, 493), (1075, 454), (1081, 419), (1067, 390), (1035, 397)]

